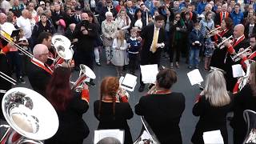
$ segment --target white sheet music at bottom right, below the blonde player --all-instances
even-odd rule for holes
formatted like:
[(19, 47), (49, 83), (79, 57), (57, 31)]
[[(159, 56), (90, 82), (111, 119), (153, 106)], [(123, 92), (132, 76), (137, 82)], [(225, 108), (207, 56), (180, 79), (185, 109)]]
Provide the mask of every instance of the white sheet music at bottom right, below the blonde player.
[(205, 144), (213, 144), (213, 143), (223, 144), (224, 143), (220, 130), (204, 132), (202, 135), (202, 138)]

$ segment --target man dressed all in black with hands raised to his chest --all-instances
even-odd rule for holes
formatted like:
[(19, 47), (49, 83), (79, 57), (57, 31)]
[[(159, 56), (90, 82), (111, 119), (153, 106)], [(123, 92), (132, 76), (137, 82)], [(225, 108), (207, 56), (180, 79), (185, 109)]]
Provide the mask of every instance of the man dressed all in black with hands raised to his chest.
[[(74, 29), (74, 37), (78, 38), (78, 63), (85, 64), (93, 70), (94, 64), (94, 39), (97, 36), (96, 26), (89, 22), (89, 16), (86, 13), (81, 14), (82, 21)], [(89, 83), (95, 86), (94, 82)]]

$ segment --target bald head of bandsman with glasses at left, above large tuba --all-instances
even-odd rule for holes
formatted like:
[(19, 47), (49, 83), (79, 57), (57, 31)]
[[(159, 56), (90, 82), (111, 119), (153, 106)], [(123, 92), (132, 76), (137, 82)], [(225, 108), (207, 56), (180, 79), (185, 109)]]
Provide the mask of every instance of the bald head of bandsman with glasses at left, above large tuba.
[(39, 61), (45, 63), (48, 59), (49, 50), (46, 45), (38, 44), (34, 46), (33, 49), (34, 58), (37, 58)]

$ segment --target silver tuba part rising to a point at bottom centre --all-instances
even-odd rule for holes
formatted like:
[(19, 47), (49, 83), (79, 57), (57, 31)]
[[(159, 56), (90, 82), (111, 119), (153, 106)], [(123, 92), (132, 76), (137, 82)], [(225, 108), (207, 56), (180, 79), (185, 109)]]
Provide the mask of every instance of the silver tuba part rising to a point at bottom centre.
[(153, 130), (150, 128), (150, 125), (146, 122), (145, 118), (141, 117), (141, 120), (142, 131), (134, 144), (160, 144), (158, 138), (154, 134)]

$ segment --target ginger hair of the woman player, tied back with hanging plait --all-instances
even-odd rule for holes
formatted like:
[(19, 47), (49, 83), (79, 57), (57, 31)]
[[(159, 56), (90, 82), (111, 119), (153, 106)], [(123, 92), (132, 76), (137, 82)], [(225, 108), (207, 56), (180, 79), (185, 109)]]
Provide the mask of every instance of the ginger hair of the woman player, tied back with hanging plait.
[(116, 77), (106, 77), (103, 78), (101, 88), (100, 88), (100, 103), (98, 106), (98, 118), (100, 118), (100, 113), (102, 109), (102, 99), (104, 96), (109, 96), (112, 98), (113, 102), (113, 119), (115, 119), (115, 101), (116, 94), (119, 88), (119, 80)]

